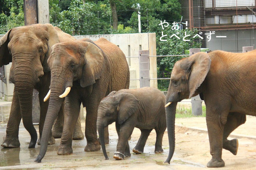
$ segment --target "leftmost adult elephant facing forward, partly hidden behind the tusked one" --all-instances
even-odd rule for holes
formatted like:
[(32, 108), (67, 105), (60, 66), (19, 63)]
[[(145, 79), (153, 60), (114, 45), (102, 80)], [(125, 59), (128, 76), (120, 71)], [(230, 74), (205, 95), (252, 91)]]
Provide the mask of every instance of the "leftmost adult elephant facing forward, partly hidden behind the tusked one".
[[(12, 28), (0, 39), (0, 66), (12, 62), (9, 79), (14, 84), (6, 138), (1, 146), (20, 146), (18, 134), (21, 118), (31, 135), (29, 148), (35, 146), (37, 133), (32, 124), (33, 89), (35, 88), (39, 92), (39, 135), (41, 137), (48, 108), (48, 102), (44, 103), (43, 98), (50, 85), (51, 74), (47, 64), (50, 48), (56, 43), (74, 40), (71, 35), (51, 24)], [(80, 139), (83, 138), (81, 129), (78, 134)], [(39, 138), (38, 144), (40, 144), (40, 140)], [(55, 139), (51, 136), (48, 143), (55, 143)]]

